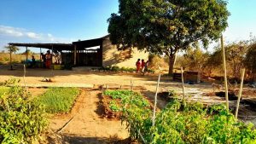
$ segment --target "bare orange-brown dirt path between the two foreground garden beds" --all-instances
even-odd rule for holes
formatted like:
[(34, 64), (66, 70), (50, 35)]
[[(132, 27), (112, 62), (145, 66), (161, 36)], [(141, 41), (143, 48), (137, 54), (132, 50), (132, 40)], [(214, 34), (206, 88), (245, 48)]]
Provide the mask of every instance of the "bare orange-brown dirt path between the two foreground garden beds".
[(63, 143), (106, 143), (110, 139), (125, 139), (128, 132), (119, 120), (102, 118), (99, 90), (82, 90), (73, 110), (69, 114), (55, 116), (49, 125), (53, 131), (60, 130), (71, 118), (73, 120), (61, 130)]

